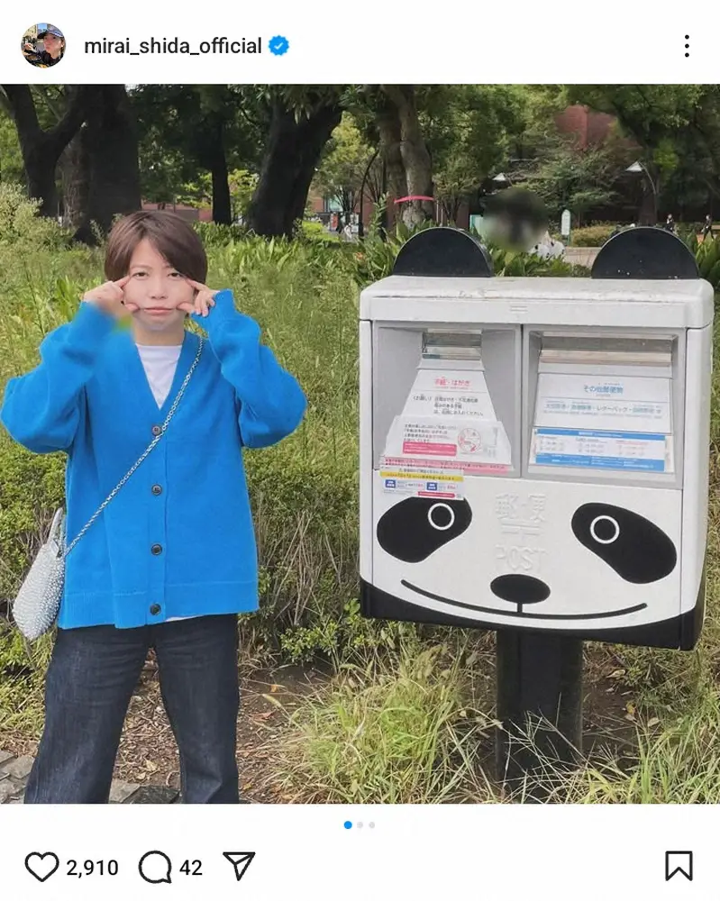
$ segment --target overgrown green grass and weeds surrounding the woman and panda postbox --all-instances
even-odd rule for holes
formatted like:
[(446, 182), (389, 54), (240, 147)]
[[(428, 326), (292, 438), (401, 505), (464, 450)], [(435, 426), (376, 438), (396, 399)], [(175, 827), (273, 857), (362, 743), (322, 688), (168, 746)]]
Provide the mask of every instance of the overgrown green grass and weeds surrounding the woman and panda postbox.
[[(256, 661), (278, 653), (312, 660), (321, 651), (333, 671), (268, 742), (273, 781), (297, 801), (523, 799), (527, 786), (508, 796), (491, 778), (492, 637), (362, 620), (355, 602), (359, 284), (362, 273), (378, 277), (390, 258), (357, 259), (356, 248), (303, 241), (229, 242), (209, 258), (209, 284), (232, 287), (309, 402), (295, 435), (247, 457), (263, 602), (260, 614), (243, 619), (243, 649)], [(28, 256), (0, 242), (0, 276), (1, 389), (35, 365), (43, 335), (102, 280), (102, 257), (41, 247)], [(544, 790), (554, 801), (720, 801), (718, 372), (702, 641), (689, 654), (588, 646), (588, 690), (612, 674), (627, 698), (624, 726), (633, 740), (594, 751), (570, 773), (545, 761)], [(0, 597), (13, 596), (38, 523), (61, 497), (62, 463), (19, 451), (0, 434)], [(4, 733), (39, 732), (50, 647), (46, 638), (28, 648), (0, 619), (0, 745)]]

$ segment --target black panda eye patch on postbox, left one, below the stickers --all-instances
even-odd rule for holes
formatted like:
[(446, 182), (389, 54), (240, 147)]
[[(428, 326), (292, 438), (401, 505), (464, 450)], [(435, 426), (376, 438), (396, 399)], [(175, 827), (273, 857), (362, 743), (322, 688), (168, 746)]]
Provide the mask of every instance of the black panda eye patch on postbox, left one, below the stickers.
[(472, 511), (466, 500), (407, 497), (378, 522), (378, 542), (391, 557), (419, 563), (468, 528)]

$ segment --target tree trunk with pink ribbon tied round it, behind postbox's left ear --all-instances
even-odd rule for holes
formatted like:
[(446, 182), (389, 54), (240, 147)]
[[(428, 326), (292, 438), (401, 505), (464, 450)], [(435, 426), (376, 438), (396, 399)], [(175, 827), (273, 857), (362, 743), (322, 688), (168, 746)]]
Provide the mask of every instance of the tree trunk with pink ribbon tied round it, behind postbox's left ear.
[[(382, 85), (381, 88), (396, 108), (396, 123), (399, 125), (400, 133), (399, 150), (405, 171), (406, 193), (411, 196), (433, 196), (433, 171), (430, 154), (417, 116), (415, 86)], [(402, 218), (403, 222), (412, 228), (432, 219), (433, 213), (432, 201), (411, 200), (403, 205)]]

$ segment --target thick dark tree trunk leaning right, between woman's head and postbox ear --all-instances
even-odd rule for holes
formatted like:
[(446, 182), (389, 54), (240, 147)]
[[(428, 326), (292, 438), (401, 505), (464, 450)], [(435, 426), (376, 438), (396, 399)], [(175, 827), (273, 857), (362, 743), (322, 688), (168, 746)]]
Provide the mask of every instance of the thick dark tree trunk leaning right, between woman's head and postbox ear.
[(291, 237), (303, 218), (307, 193), (320, 154), (340, 123), (339, 104), (320, 105), (296, 122), (279, 100), (272, 105), (260, 180), (248, 210), (251, 231), (265, 237)]

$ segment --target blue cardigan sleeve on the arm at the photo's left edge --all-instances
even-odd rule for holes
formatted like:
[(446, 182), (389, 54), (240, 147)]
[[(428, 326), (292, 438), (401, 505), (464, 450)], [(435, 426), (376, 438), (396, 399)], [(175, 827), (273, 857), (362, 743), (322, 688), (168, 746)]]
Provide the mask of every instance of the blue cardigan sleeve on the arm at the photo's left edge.
[(41, 363), (5, 387), (0, 422), (35, 453), (67, 451), (75, 440), (80, 397), (92, 377), (112, 315), (81, 303), (75, 318), (50, 332), (40, 346)]

